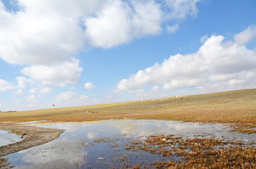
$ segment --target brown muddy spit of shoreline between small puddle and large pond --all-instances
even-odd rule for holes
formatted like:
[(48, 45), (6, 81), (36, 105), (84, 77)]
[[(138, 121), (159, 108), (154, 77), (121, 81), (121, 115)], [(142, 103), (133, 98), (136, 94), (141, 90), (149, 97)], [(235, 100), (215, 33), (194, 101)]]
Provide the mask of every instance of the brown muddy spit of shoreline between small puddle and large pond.
[(35, 126), (25, 126), (15, 123), (0, 123), (1, 130), (7, 130), (28, 137), (22, 141), (0, 147), (0, 157), (17, 153), (21, 150), (48, 143), (60, 136), (65, 130), (47, 129)]

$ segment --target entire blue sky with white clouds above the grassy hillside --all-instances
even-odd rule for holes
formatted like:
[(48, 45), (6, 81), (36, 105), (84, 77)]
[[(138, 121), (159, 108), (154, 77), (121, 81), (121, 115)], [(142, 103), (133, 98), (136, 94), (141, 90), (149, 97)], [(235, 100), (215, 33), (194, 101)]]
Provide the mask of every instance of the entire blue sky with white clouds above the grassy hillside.
[(0, 109), (256, 87), (255, 0), (1, 0)]

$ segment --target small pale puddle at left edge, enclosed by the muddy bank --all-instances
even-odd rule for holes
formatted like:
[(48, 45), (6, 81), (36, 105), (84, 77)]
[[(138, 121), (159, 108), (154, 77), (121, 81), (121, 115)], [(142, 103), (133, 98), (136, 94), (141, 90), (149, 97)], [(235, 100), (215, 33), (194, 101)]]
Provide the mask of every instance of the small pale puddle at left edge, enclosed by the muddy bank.
[(9, 133), (9, 131), (0, 130), (0, 146), (16, 143), (23, 139), (24, 138), (20, 138), (20, 135)]

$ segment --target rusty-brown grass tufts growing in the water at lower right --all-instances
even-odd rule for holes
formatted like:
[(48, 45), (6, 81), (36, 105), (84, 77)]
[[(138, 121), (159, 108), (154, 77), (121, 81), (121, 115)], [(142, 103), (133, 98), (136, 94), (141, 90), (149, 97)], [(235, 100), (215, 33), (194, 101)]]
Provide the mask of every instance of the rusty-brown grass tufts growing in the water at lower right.
[(256, 148), (252, 145), (216, 138), (182, 139), (173, 135), (151, 135), (144, 141), (130, 141), (126, 149), (143, 150), (163, 157), (182, 157), (181, 161), (152, 162), (157, 169), (255, 169)]

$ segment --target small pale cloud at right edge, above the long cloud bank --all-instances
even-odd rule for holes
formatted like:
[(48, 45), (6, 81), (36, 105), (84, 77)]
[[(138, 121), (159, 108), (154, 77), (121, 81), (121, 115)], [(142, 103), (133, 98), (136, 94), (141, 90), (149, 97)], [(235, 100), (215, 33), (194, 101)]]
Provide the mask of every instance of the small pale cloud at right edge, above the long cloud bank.
[(250, 41), (252, 38), (256, 36), (256, 25), (249, 26), (245, 31), (241, 31), (240, 33), (234, 36), (234, 40), (236, 44), (243, 45)]

